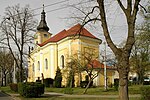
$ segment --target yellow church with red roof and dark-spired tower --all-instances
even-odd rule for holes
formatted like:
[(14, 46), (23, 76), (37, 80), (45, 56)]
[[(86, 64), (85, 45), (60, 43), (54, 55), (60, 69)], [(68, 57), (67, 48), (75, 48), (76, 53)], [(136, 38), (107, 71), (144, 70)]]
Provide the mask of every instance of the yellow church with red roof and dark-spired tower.
[[(62, 30), (52, 36), (48, 32), (49, 28), (45, 21), (45, 12), (41, 13), (41, 21), (37, 27), (37, 32), (34, 35), (35, 47), (29, 54), (28, 64), (28, 81), (35, 82), (42, 78), (54, 79), (57, 67), (63, 70), (66, 67), (67, 59), (79, 52), (85, 50), (94, 50), (99, 53), (99, 45), (101, 40), (91, 34), (87, 29), (77, 24), (67, 30)], [(110, 71), (111, 83), (114, 71)], [(95, 82), (98, 85), (103, 84), (100, 81), (100, 73)], [(103, 80), (104, 77), (101, 77)], [(64, 79), (63, 79), (64, 80)], [(65, 83), (62, 83), (65, 85)]]

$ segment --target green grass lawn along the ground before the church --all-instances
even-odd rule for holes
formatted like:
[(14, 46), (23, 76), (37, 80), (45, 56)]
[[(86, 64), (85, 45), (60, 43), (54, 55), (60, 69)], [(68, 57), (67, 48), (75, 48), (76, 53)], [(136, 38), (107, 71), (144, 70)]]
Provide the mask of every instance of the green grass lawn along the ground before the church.
[[(133, 85), (129, 86), (129, 95), (130, 94), (140, 94), (140, 85)], [(7, 87), (1, 87), (0, 90), (13, 94), (15, 92), (11, 91), (10, 88)], [(56, 92), (56, 93), (64, 93), (65, 88), (45, 88), (45, 92)], [(73, 88), (73, 94), (76, 95), (82, 95), (84, 91), (84, 88)], [(113, 88), (108, 88), (108, 91), (104, 91), (104, 87), (97, 87), (97, 88), (89, 88), (87, 91), (88, 95), (118, 95), (118, 91), (115, 91)], [(42, 95), (39, 98), (23, 98), (20, 97), (21, 100), (118, 100), (118, 98), (105, 98), (105, 97), (61, 97), (57, 95)], [(140, 100), (140, 98), (132, 97), (130, 100)]]

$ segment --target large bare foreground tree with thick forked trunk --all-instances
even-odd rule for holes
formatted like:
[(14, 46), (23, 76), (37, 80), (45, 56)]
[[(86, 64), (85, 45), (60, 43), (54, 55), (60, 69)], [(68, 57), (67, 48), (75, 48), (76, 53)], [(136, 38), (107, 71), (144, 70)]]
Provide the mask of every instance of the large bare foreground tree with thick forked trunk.
[[(85, 15), (83, 19), (83, 26), (89, 22), (100, 22), (104, 37), (108, 46), (111, 48), (117, 59), (117, 70), (119, 72), (119, 99), (129, 100), (128, 96), (128, 73), (129, 67), (129, 57), (131, 53), (132, 46), (135, 42), (134, 32), (135, 32), (135, 21), (137, 12), (141, 0), (117, 0), (117, 3), (122, 10), (126, 23), (127, 23), (127, 39), (123, 47), (117, 47), (110, 36), (110, 27), (108, 25), (108, 20), (106, 18), (106, 0), (97, 0), (97, 6), (94, 6), (90, 12)], [(113, 2), (113, 0), (112, 0)], [(114, 5), (115, 6), (115, 5)], [(96, 17), (91, 17), (95, 11), (99, 10)]]

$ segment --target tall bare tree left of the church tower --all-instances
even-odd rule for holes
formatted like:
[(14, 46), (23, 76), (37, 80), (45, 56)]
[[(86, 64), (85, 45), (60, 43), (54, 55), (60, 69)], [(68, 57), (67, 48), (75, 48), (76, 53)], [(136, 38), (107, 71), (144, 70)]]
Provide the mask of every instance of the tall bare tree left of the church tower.
[[(20, 8), (19, 5), (7, 7), (4, 21), (1, 23), (4, 37), (1, 43), (9, 48), (15, 59), (16, 66), (19, 69), (20, 82), (23, 81), (23, 61), (25, 54), (27, 54), (26, 48), (28, 48), (28, 43), (33, 40), (32, 32), (36, 29), (36, 23), (29, 6)], [(16, 58), (16, 53), (19, 58)]]

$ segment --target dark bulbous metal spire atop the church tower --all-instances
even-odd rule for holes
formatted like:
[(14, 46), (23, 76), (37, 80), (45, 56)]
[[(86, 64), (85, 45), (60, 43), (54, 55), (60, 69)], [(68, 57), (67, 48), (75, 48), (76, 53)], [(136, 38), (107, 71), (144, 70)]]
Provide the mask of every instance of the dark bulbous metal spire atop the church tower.
[(43, 4), (43, 11), (41, 12), (41, 21), (37, 27), (37, 30), (45, 30), (45, 31), (49, 31), (49, 28), (47, 26), (46, 20), (45, 20), (45, 11), (44, 11), (44, 4)]

